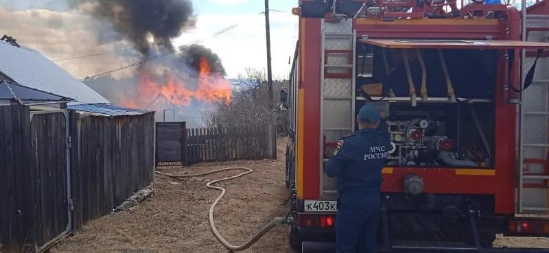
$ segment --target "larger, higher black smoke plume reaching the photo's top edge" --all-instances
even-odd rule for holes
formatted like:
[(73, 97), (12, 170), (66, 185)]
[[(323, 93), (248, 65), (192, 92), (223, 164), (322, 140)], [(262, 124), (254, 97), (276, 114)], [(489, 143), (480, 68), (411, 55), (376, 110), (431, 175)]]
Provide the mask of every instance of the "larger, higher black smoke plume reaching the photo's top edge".
[(150, 53), (152, 45), (173, 49), (172, 39), (196, 23), (190, 0), (70, 1), (73, 7), (91, 3), (92, 8), (86, 10), (94, 16), (108, 19), (117, 32), (129, 38), (143, 55)]

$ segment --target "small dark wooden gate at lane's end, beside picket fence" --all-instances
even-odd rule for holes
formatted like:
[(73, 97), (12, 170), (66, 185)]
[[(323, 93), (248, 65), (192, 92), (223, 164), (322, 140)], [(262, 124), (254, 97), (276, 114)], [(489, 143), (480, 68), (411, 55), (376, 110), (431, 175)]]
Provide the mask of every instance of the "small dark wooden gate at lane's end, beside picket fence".
[(156, 165), (160, 162), (187, 164), (187, 124), (156, 122)]

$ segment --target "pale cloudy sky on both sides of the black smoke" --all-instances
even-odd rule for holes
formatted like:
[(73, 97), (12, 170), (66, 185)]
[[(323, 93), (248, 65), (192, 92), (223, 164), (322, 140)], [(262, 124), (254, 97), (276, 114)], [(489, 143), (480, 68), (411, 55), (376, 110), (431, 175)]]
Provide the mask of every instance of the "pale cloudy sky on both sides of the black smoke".
[[(270, 12), (272, 71), (277, 79), (284, 79), (290, 71), (288, 64), (297, 40), (298, 19), (290, 12), (297, 0), (271, 1)], [(202, 45), (217, 53), (228, 78), (235, 78), (245, 69), (266, 69), (266, 38), (264, 1), (259, 0), (194, 0), (196, 27), (185, 31), (174, 40), (174, 45), (185, 45), (207, 38)], [(215, 38), (211, 34), (231, 25), (231, 31)], [(8, 34), (20, 45), (36, 49), (51, 60), (71, 58), (92, 53), (117, 51), (106, 55), (56, 62), (82, 78), (130, 64), (139, 60), (128, 41), (109, 41), (114, 31), (93, 32), (92, 27), (107, 27), (80, 10), (69, 8), (63, 0), (0, 0), (0, 36)], [(102, 29), (106, 30), (106, 29)], [(108, 29), (107, 29), (108, 30)], [(131, 75), (115, 73), (115, 77)]]

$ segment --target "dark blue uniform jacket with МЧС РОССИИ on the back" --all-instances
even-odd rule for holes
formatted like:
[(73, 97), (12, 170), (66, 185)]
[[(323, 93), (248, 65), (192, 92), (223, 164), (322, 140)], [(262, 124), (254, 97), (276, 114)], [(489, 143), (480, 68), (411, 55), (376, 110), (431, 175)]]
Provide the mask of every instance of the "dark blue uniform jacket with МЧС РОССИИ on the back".
[(338, 192), (346, 189), (379, 190), (382, 168), (390, 148), (390, 135), (384, 120), (377, 129), (362, 129), (338, 142), (325, 171), (337, 177)]

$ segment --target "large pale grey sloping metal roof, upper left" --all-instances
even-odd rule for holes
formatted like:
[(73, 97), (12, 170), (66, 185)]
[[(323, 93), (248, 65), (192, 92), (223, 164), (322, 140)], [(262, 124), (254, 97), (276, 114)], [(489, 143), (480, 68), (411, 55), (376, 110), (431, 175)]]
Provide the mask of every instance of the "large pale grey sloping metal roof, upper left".
[(108, 103), (102, 95), (37, 51), (14, 47), (1, 40), (0, 72), (23, 86), (71, 97), (84, 104)]

